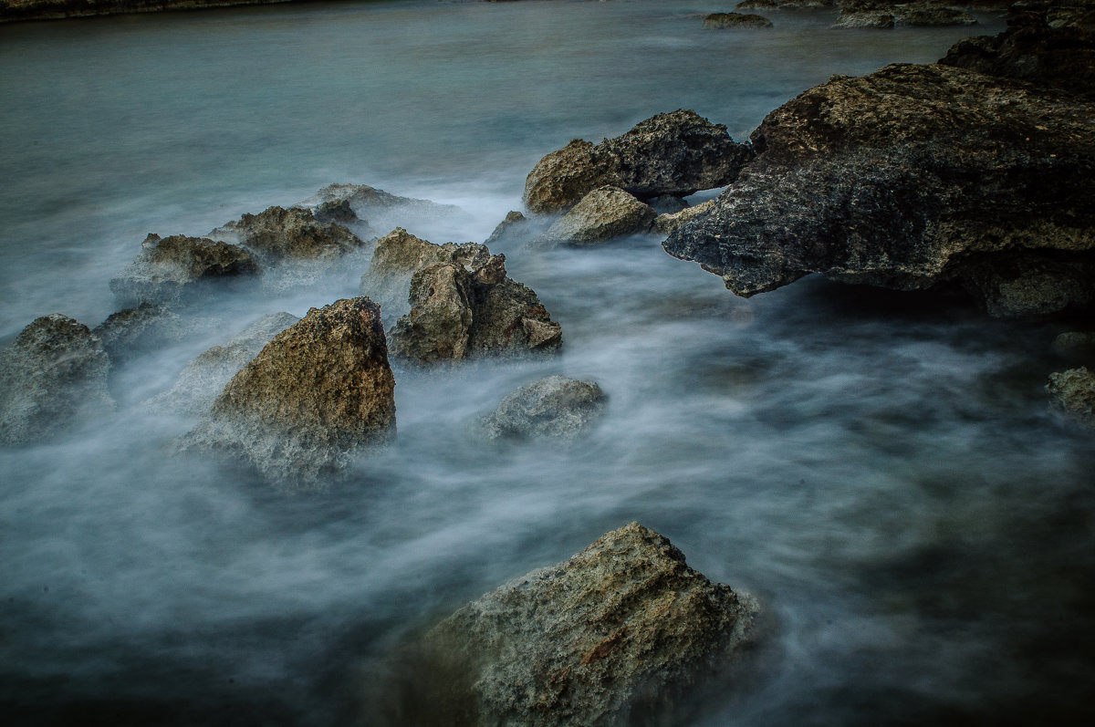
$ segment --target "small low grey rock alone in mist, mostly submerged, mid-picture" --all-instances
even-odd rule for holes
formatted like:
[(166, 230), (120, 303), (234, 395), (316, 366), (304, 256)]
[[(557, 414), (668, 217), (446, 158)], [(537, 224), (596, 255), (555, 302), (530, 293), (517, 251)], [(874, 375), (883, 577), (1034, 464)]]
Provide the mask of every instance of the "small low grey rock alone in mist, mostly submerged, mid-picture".
[(546, 377), (503, 399), (480, 420), (479, 431), (487, 439), (576, 439), (603, 415), (607, 401), (592, 381)]

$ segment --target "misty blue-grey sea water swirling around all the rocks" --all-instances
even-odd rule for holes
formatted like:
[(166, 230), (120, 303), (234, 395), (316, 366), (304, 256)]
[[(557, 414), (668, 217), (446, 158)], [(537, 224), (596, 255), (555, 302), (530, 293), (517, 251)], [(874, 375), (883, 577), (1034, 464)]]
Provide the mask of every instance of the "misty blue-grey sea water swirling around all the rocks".
[[(205, 234), (337, 182), (459, 205), (384, 222), (479, 242), (572, 138), (693, 108), (745, 139), (831, 74), (1003, 26), (841, 32), (773, 11), (766, 32), (701, 28), (726, 9), (423, 0), (2, 26), (0, 344), (39, 315), (118, 310), (107, 284), (149, 232)], [(751, 678), (682, 724), (1095, 713), (1095, 447), (1042, 391), (1068, 324), (814, 278), (747, 301), (656, 236), (492, 252), (562, 324), (561, 353), (396, 366), (396, 442), (327, 492), (171, 457), (196, 419), (147, 401), (261, 315), (359, 295), (367, 252), (210, 296), (186, 335), (115, 367), (115, 414), (0, 450), (0, 718), (379, 724), (402, 639), (631, 520), (771, 614)], [(587, 437), (472, 436), (552, 373), (609, 395)]]

